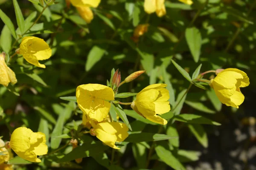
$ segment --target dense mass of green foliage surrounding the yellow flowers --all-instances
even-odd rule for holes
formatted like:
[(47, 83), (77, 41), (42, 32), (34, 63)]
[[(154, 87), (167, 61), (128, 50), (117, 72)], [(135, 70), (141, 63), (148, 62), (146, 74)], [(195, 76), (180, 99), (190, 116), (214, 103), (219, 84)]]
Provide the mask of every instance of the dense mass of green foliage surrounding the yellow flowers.
[[(208, 147), (204, 124), (220, 125), (224, 111), (237, 112), (222, 108), (214, 91), (195, 81), (200, 71), (236, 67), (247, 72), (252, 84), (255, 82), (250, 76), (256, 63), (253, 0), (194, 0), (192, 6), (166, 0), (167, 14), (162, 18), (146, 14), (143, 0), (102, 0), (93, 9), (95, 16), (90, 24), (76, 8), (67, 8), (64, 0), (56, 0), (47, 8), (41, 6), (42, 2), (45, 7), (41, 0), (0, 0), (0, 51), (6, 52), (6, 61), (23, 36), (44, 38), (53, 53), (44, 62), (46, 69), (13, 57), (9, 67), (18, 82), (0, 87), (0, 136), (9, 140), (9, 133), (22, 125), (47, 136), (49, 154), (42, 163), (23, 167), (24, 170), (102, 166), (111, 170), (166, 166), (185, 170), (185, 163), (197, 161), (201, 153), (180, 146), (191, 137), (183, 133), (192, 134), (203, 147)], [(149, 24), (148, 32), (134, 42), (134, 28), (144, 23)], [(112, 118), (117, 113), (132, 130), (116, 152), (82, 133), (82, 114), (76, 99), (62, 98), (71, 100), (68, 103), (60, 99), (75, 96), (76, 87), (81, 84), (106, 84), (113, 76), (112, 68), (119, 68), (122, 77), (137, 70), (146, 71), (119, 88), (115, 97), (120, 101), (131, 102), (134, 92), (149, 84), (165, 83), (172, 108), (162, 116), (169, 119), (162, 126), (128, 106), (122, 109), (112, 104)], [(74, 150), (69, 144), (71, 138), (80, 139), (81, 145)], [(81, 164), (73, 161), (81, 157), (90, 158)], [(15, 157), (10, 164), (20, 167), (31, 162)]]

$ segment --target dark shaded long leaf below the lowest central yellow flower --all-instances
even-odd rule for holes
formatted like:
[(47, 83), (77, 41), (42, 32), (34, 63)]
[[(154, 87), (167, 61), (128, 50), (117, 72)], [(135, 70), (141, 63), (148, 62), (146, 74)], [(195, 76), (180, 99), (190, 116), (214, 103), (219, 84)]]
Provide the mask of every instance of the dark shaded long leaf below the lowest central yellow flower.
[(82, 144), (79, 147), (73, 149), (70, 153), (58, 160), (58, 163), (65, 161), (72, 161), (78, 158), (85, 158), (89, 156), (99, 155), (108, 149), (109, 146), (103, 145), (102, 142), (96, 142), (94, 144)]

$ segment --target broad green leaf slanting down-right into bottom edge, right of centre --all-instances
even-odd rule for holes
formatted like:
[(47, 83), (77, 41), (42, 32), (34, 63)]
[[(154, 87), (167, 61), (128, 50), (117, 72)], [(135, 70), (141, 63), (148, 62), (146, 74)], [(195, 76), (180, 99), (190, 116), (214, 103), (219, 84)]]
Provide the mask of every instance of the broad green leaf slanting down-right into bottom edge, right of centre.
[(172, 167), (175, 170), (186, 170), (185, 167), (180, 163), (178, 159), (172, 154), (170, 150), (167, 150), (161, 145), (155, 147), (157, 156), (167, 165)]

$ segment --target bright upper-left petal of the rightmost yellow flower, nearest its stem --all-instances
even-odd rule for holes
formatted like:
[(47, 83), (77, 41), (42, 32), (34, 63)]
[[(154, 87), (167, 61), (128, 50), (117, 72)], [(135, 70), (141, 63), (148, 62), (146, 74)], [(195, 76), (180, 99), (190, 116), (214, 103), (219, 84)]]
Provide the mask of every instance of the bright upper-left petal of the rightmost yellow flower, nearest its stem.
[(221, 71), (212, 81), (214, 85), (217, 83), (224, 88), (234, 88), (236, 87), (237, 79), (243, 79), (242, 74), (234, 71)]

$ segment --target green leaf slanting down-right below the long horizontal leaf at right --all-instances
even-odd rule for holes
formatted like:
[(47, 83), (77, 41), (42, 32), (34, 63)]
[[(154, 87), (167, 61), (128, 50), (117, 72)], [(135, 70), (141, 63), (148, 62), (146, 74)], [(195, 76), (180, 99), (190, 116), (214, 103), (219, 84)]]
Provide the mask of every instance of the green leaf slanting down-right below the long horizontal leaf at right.
[(189, 130), (196, 137), (198, 142), (200, 142), (203, 147), (208, 147), (208, 138), (207, 138), (207, 133), (204, 130), (204, 127), (199, 124), (189, 124), (188, 127), (189, 127)]

